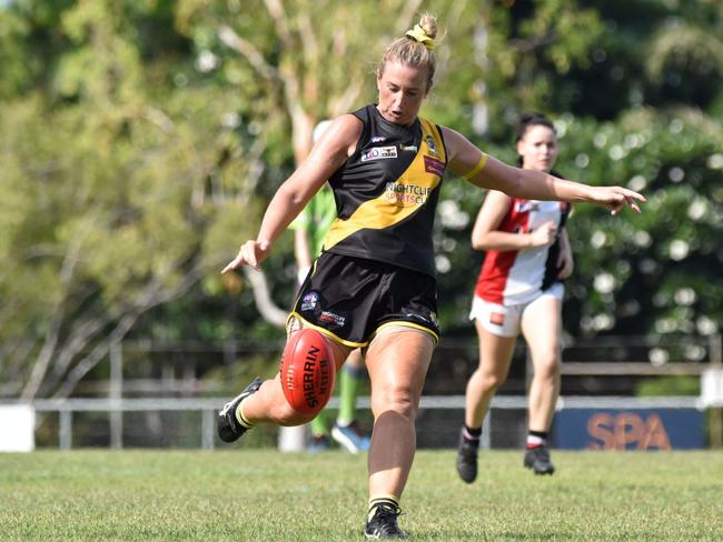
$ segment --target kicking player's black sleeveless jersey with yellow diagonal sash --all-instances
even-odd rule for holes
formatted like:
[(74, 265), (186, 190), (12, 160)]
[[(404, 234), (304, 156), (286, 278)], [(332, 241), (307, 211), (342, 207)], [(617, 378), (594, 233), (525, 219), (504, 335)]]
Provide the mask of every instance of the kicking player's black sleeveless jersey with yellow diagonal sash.
[(439, 127), (418, 118), (399, 126), (376, 106), (351, 157), (329, 179), (337, 205), (324, 250), (436, 277), (432, 227), (447, 155)]

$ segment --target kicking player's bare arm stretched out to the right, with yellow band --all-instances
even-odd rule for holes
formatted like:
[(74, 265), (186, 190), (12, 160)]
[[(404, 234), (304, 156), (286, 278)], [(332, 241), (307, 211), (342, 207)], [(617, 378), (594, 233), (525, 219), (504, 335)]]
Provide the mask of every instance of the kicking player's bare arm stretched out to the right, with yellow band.
[(528, 200), (586, 201), (606, 207), (616, 214), (624, 207), (640, 212), (645, 198), (623, 187), (590, 187), (557, 179), (542, 171), (514, 168), (484, 154), (460, 133), (444, 128), (452, 171), (482, 188), (499, 190)]

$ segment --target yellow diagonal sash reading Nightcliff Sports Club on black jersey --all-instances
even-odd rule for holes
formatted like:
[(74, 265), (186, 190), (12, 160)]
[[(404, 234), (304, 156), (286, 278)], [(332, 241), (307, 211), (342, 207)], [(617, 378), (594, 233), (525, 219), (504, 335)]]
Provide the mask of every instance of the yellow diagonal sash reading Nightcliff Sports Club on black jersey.
[[(426, 119), (422, 121), (422, 142), (407, 170), (384, 193), (361, 203), (347, 219), (336, 219), (324, 242), (325, 250), (361, 229), (384, 229), (402, 222), (423, 208), (432, 191), (442, 182), (447, 158), (442, 134)], [(443, 173), (444, 174), (444, 173)]]

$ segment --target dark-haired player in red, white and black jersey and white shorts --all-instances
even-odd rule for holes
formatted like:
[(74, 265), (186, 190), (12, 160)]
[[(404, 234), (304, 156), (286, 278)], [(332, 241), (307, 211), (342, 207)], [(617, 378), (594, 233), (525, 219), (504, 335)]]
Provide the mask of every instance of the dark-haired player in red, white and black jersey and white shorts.
[[(551, 172), (557, 158), (553, 123), (539, 113), (522, 118), (518, 164)], [(559, 174), (553, 172), (555, 177)], [(457, 472), (467, 483), (477, 478), (477, 450), (492, 398), (505, 382), (522, 332), (532, 358), (527, 444), (523, 464), (552, 474), (547, 434), (559, 394), (562, 279), (573, 258), (565, 231), (570, 203), (523, 200), (489, 191), (472, 232), (472, 245), (487, 251), (472, 304), (479, 338), (479, 365), (467, 383), (465, 425)]]

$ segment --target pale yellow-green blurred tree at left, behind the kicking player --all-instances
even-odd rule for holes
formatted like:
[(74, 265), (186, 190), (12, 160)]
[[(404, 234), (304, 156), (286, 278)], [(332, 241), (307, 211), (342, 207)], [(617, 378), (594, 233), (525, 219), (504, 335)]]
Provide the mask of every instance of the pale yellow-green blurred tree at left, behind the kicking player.
[[(0, 114), (0, 371), (29, 400), (71, 393), (143, 313), (220, 267), (227, 232), (252, 234), (265, 139), (236, 131), (229, 89), (176, 91), (181, 37), (140, 48), (167, 6), (12, 8), (33, 42), (60, 44)], [(34, 52), (18, 36), (23, 81)]]

